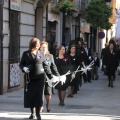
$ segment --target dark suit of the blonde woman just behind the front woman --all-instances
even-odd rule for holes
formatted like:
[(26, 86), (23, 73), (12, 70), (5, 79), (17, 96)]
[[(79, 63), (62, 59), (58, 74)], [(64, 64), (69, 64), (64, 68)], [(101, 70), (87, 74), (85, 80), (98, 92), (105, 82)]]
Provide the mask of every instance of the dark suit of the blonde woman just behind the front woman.
[[(54, 63), (53, 55), (50, 54), (49, 56), (45, 56), (45, 60), (46, 60), (46, 63), (48, 64), (48, 67), (51, 69), (52, 73), (56, 76), (59, 76), (57, 67)], [(52, 88), (48, 85), (47, 82), (45, 82), (44, 95), (52, 95)]]

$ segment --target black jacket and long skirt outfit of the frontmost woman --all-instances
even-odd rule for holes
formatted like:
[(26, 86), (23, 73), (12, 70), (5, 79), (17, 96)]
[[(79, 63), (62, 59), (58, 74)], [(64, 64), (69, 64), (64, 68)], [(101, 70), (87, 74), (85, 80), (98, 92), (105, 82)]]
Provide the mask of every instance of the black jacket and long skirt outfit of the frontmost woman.
[(24, 107), (40, 107), (43, 104), (45, 73), (49, 79), (52, 78), (52, 73), (46, 64), (43, 52), (39, 50), (37, 55), (32, 54), (29, 50), (23, 53), (20, 68), (23, 70), (24, 67), (29, 68), (29, 66), (31, 66), (30, 72), (25, 74)]

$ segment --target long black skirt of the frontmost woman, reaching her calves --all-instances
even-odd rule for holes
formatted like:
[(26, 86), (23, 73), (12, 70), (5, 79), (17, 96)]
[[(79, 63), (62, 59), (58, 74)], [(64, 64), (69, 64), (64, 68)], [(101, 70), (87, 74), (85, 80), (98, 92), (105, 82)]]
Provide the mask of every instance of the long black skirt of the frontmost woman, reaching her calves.
[(43, 105), (45, 81), (34, 79), (28, 83), (28, 91), (24, 90), (24, 107), (40, 107)]

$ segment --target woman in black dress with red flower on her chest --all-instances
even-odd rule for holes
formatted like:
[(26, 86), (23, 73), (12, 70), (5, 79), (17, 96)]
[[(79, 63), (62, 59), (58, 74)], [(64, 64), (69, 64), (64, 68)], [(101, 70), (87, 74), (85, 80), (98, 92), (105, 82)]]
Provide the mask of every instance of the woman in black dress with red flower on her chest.
[[(66, 74), (70, 70), (70, 60), (67, 55), (65, 55), (65, 47), (60, 46), (58, 48), (58, 56), (55, 57), (55, 64), (57, 66), (60, 75)], [(69, 75), (66, 76), (66, 82), (61, 84), (61, 82), (55, 87), (58, 90), (59, 105), (64, 106), (64, 99), (66, 94), (66, 89), (70, 81)]]

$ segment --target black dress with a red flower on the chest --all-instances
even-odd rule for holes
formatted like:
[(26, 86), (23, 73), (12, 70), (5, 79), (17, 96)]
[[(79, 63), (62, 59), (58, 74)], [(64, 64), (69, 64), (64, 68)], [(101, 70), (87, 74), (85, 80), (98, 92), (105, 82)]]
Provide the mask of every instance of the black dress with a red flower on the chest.
[[(66, 74), (70, 70), (70, 59), (67, 55), (64, 56), (64, 58), (60, 59), (58, 56), (55, 58), (55, 64), (57, 66), (58, 72), (60, 75)], [(66, 82), (62, 85), (61, 82), (59, 82), (58, 85), (56, 85), (56, 89), (58, 90), (66, 90), (68, 87), (70, 81), (70, 75), (66, 76)]]

